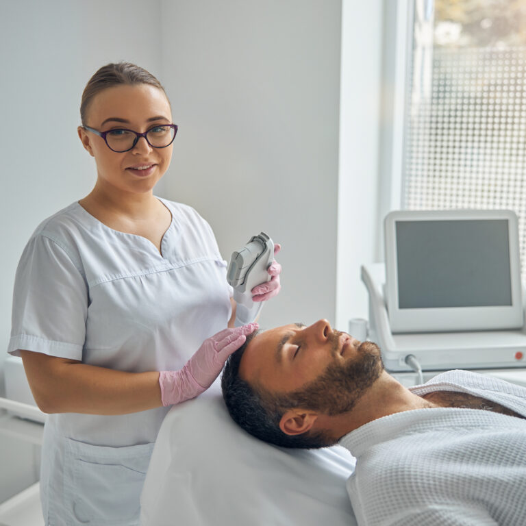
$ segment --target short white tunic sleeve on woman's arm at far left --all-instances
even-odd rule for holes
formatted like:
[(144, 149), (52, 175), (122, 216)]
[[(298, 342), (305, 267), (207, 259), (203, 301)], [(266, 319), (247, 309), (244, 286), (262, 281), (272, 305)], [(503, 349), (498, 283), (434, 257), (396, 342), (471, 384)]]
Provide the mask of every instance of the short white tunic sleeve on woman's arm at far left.
[(87, 314), (88, 288), (79, 264), (57, 242), (34, 236), (16, 269), (8, 352), (82, 360)]

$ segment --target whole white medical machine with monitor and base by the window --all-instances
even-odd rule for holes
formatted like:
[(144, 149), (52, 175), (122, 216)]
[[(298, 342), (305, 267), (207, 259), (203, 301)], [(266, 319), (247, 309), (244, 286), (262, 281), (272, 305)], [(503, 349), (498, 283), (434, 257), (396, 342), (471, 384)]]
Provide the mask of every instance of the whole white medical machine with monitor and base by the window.
[(385, 234), (386, 264), (362, 281), (388, 371), (526, 366), (515, 214), (391, 212)]

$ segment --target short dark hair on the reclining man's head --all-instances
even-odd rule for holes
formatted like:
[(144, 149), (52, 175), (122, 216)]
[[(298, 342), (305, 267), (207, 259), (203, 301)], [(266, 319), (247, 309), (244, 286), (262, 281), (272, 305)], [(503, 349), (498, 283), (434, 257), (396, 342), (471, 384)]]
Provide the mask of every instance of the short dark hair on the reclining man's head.
[(273, 395), (240, 378), (241, 358), (255, 334), (249, 334), (245, 344), (230, 355), (221, 377), (223, 399), (234, 422), (256, 438), (281, 447), (312, 449), (333, 444), (334, 440), (327, 440), (321, 433), (285, 434), (279, 429), (279, 421), (291, 408), (286, 406), (286, 395)]

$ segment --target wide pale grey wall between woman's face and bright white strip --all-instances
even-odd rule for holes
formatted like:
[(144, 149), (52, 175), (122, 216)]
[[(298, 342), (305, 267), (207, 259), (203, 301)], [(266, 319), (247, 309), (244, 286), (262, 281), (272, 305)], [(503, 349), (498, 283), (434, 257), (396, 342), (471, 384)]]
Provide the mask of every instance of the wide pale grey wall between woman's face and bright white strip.
[(335, 320), (339, 0), (162, 1), (164, 84), (180, 125), (166, 195), (225, 259), (265, 231), (283, 290), (264, 327)]

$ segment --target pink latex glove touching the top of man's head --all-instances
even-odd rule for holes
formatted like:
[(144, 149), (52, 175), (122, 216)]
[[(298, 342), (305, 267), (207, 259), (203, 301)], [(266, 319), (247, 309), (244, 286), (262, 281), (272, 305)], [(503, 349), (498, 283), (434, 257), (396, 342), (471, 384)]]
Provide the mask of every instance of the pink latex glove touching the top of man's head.
[(221, 373), (229, 355), (237, 351), (245, 343), (247, 334), (256, 329), (257, 323), (223, 329), (207, 338), (182, 369), (161, 371), (162, 405), (173, 405), (201, 395)]

